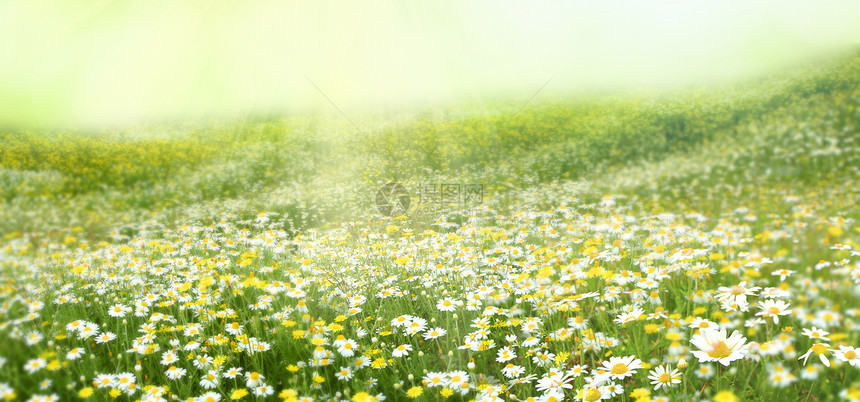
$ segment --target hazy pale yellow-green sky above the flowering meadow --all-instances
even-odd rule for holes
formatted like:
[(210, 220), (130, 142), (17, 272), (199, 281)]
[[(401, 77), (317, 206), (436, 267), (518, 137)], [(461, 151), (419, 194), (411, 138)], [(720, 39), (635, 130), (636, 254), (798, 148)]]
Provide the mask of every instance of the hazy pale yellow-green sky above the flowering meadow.
[(860, 44), (857, 1), (0, 2), (0, 126), (528, 99)]

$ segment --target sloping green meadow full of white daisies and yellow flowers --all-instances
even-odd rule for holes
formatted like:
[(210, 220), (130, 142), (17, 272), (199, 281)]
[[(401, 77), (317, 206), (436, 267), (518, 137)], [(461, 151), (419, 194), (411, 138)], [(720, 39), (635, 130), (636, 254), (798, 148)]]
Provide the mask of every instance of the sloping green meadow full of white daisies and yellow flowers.
[(0, 399), (860, 401), (857, 57), (0, 139)]

